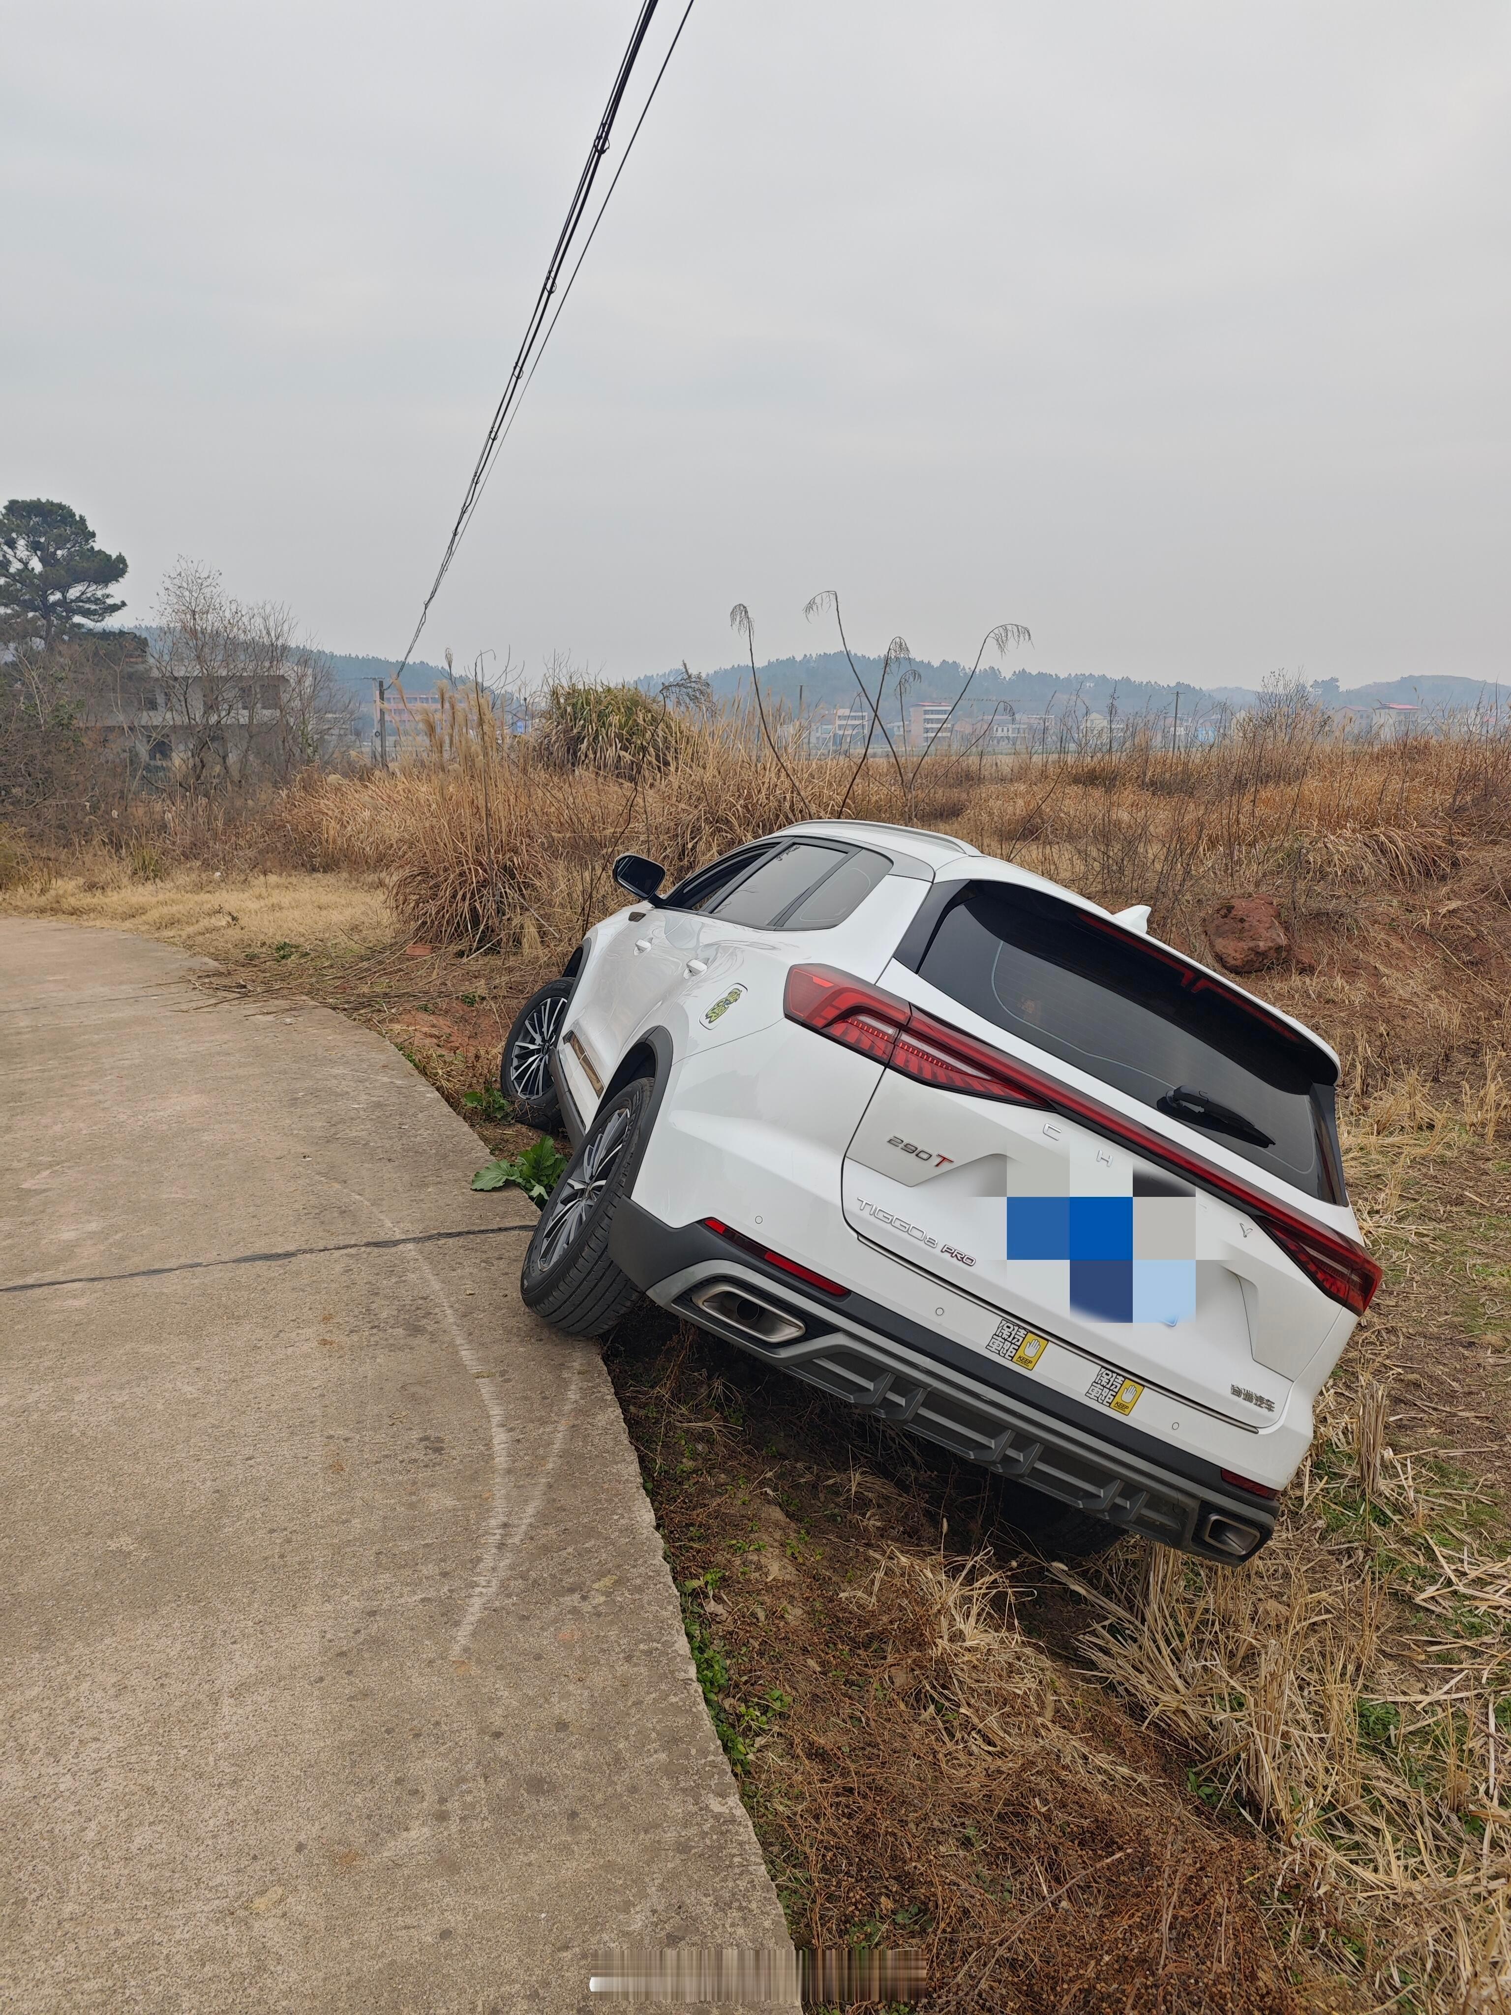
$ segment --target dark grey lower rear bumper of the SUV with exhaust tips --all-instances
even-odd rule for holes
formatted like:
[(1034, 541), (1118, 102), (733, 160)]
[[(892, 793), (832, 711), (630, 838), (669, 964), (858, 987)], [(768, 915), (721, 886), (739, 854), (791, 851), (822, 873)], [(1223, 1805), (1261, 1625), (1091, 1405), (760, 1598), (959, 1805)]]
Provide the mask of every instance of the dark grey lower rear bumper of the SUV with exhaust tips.
[(1088, 1406), (1076, 1408), (1086, 1425), (1050, 1413), (999, 1386), (1005, 1368), (983, 1366), (987, 1376), (975, 1376), (947, 1362), (965, 1356), (947, 1338), (915, 1334), (917, 1324), (854, 1294), (832, 1302), (703, 1225), (663, 1225), (625, 1199), (610, 1253), (655, 1302), (713, 1336), (1128, 1531), (1233, 1566), (1275, 1529), (1273, 1505), (1233, 1491), (1213, 1465), (1193, 1459), (1191, 1473), (1181, 1473), (1150, 1453), (1158, 1443), (1124, 1423), (1108, 1423), (1108, 1433)]

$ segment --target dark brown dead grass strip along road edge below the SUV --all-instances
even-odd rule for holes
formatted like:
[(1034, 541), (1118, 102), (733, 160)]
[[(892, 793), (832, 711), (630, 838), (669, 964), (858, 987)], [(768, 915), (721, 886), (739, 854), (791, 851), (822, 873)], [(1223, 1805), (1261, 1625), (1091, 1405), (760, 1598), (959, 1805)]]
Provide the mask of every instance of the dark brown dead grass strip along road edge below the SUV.
[(921, 1946), (931, 2015), (1358, 2007), (1297, 1997), (1263, 1842), (1036, 1640), (979, 1477), (665, 1320), (608, 1364), (794, 1938)]

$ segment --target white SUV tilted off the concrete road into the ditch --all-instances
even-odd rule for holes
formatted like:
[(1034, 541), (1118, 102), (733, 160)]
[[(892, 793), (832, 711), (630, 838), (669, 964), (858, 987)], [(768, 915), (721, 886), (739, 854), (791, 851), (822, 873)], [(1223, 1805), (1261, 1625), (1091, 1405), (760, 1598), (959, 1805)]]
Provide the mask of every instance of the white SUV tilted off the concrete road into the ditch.
[(594, 1336), (645, 1292), (1080, 1513), (1263, 1546), (1380, 1280), (1336, 1054), (1148, 911), (937, 832), (614, 877), (504, 1052), (574, 1143), (526, 1304)]

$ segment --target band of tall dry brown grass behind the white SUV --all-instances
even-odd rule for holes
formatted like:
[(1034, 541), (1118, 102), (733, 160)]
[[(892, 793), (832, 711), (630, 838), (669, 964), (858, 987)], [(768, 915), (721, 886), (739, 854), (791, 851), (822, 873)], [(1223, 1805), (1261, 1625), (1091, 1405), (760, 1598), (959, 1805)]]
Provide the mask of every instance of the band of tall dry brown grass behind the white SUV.
[[(1372, 893), (1432, 891), (1467, 854), (1511, 838), (1511, 737), (1356, 744), (1310, 715), (1259, 715), (1229, 742), (1169, 754), (1128, 737), (1112, 756), (935, 754), (907, 764), (814, 760), (782, 727), (782, 760), (747, 715), (719, 715), (649, 760), (564, 770), (508, 740), (482, 707), (429, 719), (409, 768), (310, 780), (278, 808), (284, 844), (314, 866), (389, 877), (415, 935), (435, 943), (570, 949), (616, 907), (614, 852), (673, 877), (804, 816), (957, 832), (1199, 939), (1233, 889), (1277, 893), (1297, 929)], [(602, 752), (600, 752), (602, 754)]]

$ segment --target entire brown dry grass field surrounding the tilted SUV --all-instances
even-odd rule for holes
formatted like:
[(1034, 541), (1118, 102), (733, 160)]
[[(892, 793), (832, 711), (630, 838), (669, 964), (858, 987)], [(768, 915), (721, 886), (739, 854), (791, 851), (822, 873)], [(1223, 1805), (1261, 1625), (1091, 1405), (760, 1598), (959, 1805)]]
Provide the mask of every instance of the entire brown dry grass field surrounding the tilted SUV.
[[(1386, 1267), (1275, 1541), (1209, 1570), (1042, 1560), (1005, 1489), (633, 1314), (606, 1362), (715, 1725), (794, 1936), (921, 1944), (931, 2011), (1511, 2005), (1511, 744), (782, 760), (749, 723), (562, 768), (445, 703), (429, 752), (232, 812), (0, 846), (0, 911), (143, 931), (383, 1030), (461, 1106), (633, 848), (683, 872), (806, 814), (927, 824), (1211, 957), (1346, 1064)], [(467, 1108), (490, 1145), (528, 1138)], [(479, 1153), (482, 1159), (482, 1153)]]

